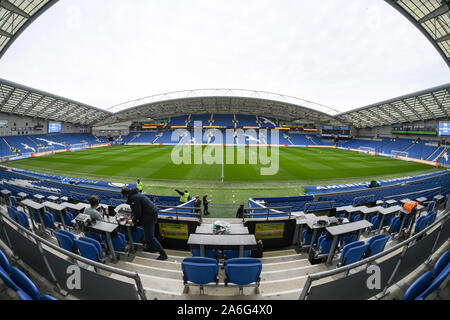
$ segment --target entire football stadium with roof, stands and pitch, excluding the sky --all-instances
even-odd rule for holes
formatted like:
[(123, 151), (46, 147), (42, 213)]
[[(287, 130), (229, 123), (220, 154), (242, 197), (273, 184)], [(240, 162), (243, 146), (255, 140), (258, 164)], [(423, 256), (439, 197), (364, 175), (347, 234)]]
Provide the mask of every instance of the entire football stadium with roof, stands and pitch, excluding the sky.
[[(449, 1), (384, 2), (448, 68)], [(1, 0), (0, 59), (56, 3)], [(450, 297), (450, 82), (72, 98), (0, 73), (0, 299)]]

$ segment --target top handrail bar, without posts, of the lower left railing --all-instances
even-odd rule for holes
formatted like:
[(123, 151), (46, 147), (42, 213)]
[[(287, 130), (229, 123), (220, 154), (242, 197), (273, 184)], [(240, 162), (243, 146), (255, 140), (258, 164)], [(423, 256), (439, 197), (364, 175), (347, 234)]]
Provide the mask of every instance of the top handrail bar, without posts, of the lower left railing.
[(6, 218), (7, 221), (9, 221), (10, 223), (12, 223), (15, 227), (17, 227), (19, 230), (23, 231), (26, 235), (32, 237), (35, 241), (40, 242), (45, 244), (46, 246), (52, 248), (55, 251), (58, 251), (59, 253), (62, 253), (74, 260), (78, 260), (81, 261), (85, 264), (88, 264), (90, 266), (93, 266), (95, 268), (99, 268), (102, 270), (105, 270), (107, 272), (111, 272), (111, 273), (116, 273), (119, 274), (121, 276), (127, 277), (127, 278), (131, 278), (133, 280), (135, 280), (136, 282), (136, 286), (137, 286), (137, 290), (138, 290), (138, 294), (141, 297), (142, 300), (147, 300), (147, 298), (145, 297), (145, 292), (142, 288), (142, 283), (141, 283), (141, 279), (139, 277), (139, 274), (137, 272), (131, 272), (131, 271), (126, 271), (126, 270), (122, 270), (122, 269), (118, 269), (109, 265), (105, 265), (96, 261), (92, 261), (90, 259), (87, 259), (83, 256), (79, 256), (75, 253), (72, 253), (70, 251), (67, 251), (65, 249), (60, 248), (59, 246), (37, 236), (36, 234), (34, 234), (33, 232), (29, 231), (28, 229), (24, 228), (23, 226), (21, 226), (20, 224), (18, 224), (17, 222), (15, 222), (14, 220), (12, 220), (6, 213), (4, 213), (2, 210), (0, 210), (0, 220)]

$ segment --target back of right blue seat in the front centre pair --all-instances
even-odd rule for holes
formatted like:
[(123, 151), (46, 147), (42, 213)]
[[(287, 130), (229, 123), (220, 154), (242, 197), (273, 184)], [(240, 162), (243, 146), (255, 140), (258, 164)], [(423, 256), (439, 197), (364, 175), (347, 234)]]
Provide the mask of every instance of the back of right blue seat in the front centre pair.
[(259, 283), (261, 270), (262, 263), (256, 258), (235, 258), (225, 263), (227, 280), (237, 285)]

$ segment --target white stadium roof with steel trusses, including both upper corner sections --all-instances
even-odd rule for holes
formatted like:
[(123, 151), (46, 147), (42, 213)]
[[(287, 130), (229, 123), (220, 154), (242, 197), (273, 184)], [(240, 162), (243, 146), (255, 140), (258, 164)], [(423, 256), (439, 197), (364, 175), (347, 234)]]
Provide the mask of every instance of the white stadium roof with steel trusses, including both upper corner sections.
[[(450, 0), (385, 0), (433, 44), (450, 67)], [(57, 0), (0, 0), (0, 58), (40, 14)], [(0, 112), (66, 121), (76, 124), (146, 118), (186, 113), (231, 113), (271, 115), (284, 120), (310, 119), (374, 127), (432, 119), (449, 119), (450, 83), (338, 113), (307, 100), (269, 92), (242, 89), (201, 89), (155, 95), (127, 102), (110, 111), (58, 97), (0, 79)]]

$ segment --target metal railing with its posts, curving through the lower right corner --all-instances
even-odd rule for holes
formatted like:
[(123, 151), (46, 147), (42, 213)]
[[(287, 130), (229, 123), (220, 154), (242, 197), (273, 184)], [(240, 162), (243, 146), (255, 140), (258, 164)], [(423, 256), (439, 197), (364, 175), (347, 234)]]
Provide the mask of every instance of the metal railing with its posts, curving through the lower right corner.
[[(439, 236), (440, 236), (440, 233), (441, 233), (441, 231), (443, 229), (444, 223), (446, 222), (446, 220), (449, 217), (450, 217), (450, 210), (447, 207), (446, 210), (442, 213), (442, 215), (433, 224), (431, 224), (430, 226), (428, 226), (426, 229), (422, 230), (421, 232), (415, 234), (411, 238), (409, 238), (409, 239), (407, 239), (407, 240), (405, 240), (405, 241), (403, 241), (403, 242), (393, 246), (392, 248), (389, 248), (387, 250), (384, 250), (383, 252), (380, 252), (380, 253), (378, 253), (376, 255), (373, 255), (373, 256), (371, 256), (369, 258), (366, 258), (364, 260), (355, 262), (353, 264), (349, 264), (347, 266), (343, 266), (343, 267), (339, 267), (337, 269), (333, 269), (333, 270), (324, 271), (324, 272), (320, 272), (320, 273), (309, 275), (307, 280), (306, 280), (305, 286), (302, 289), (302, 292), (300, 294), (299, 299), (300, 300), (306, 300), (306, 298), (308, 297), (308, 293), (309, 293), (309, 291), (311, 289), (312, 283), (314, 281), (317, 281), (319, 279), (323, 279), (323, 278), (326, 278), (326, 277), (335, 276), (335, 275), (338, 275), (338, 274), (341, 274), (341, 273), (344, 273), (344, 272), (346, 273), (346, 276), (348, 276), (348, 273), (349, 273), (349, 271), (351, 269), (355, 269), (355, 268), (358, 268), (358, 267), (363, 266), (363, 265), (369, 266), (370, 263), (372, 263), (373, 261), (375, 261), (375, 260), (377, 260), (379, 258), (385, 257), (388, 254), (390, 254), (390, 253), (392, 253), (394, 251), (397, 251), (400, 248), (403, 248), (403, 251), (402, 251), (402, 253), (401, 253), (401, 255), (400, 255), (400, 257), (399, 257), (399, 259), (398, 259), (398, 261), (397, 261), (397, 263), (395, 265), (395, 268), (392, 271), (392, 274), (389, 277), (388, 282), (386, 283), (385, 287), (383, 288), (382, 296), (384, 296), (386, 294), (386, 292), (387, 292), (387, 289), (392, 285), (392, 281), (393, 281), (393, 279), (394, 279), (394, 277), (395, 277), (395, 275), (397, 273), (398, 268), (400, 267), (400, 263), (402, 262), (403, 257), (405, 256), (406, 252), (408, 251), (409, 244), (413, 243), (417, 239), (420, 239), (423, 235), (425, 235), (427, 232), (429, 232), (430, 230), (432, 230), (434, 227), (436, 227), (438, 224), (440, 224), (442, 222), (442, 224), (440, 226), (439, 234), (438, 234), (438, 236), (436, 238), (435, 244), (434, 244), (433, 249), (432, 249), (432, 253), (433, 253), (435, 251), (435, 249), (436, 249), (435, 247), (436, 247), (437, 241), (439, 240)], [(430, 254), (430, 257), (431, 257), (431, 254)], [(426, 260), (427, 259), (425, 259), (424, 261), (426, 261)]]

